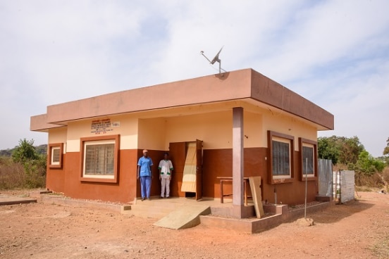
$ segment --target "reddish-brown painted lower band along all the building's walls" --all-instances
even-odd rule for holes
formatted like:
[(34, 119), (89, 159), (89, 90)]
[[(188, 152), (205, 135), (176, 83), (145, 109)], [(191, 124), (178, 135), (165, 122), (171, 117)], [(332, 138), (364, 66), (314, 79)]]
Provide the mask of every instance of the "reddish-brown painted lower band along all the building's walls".
[[(171, 196), (185, 197), (180, 191), (185, 165), (185, 142), (175, 145), (169, 151), (173, 162), (173, 176), (171, 181)], [(161, 183), (159, 182), (158, 165), (163, 159), (165, 151), (149, 150), (154, 166), (152, 167), (151, 196), (160, 196)], [(295, 177), (291, 182), (283, 184), (268, 184), (268, 165), (266, 148), (245, 149), (245, 177), (260, 176), (261, 196), (266, 203), (288, 205), (304, 203), (305, 182)], [(131, 202), (140, 197), (140, 180), (137, 179), (137, 161), (142, 156), (142, 150), (121, 150), (119, 153), (119, 170), (117, 183), (82, 182), (81, 156), (79, 152), (68, 152), (63, 156), (62, 169), (47, 169), (47, 188), (64, 193), (72, 198), (85, 198), (101, 201)], [(295, 156), (297, 157), (297, 156)], [(295, 175), (299, 170), (295, 164)], [(202, 166), (202, 196), (220, 198), (220, 180), (217, 177), (232, 176), (232, 149), (206, 149), (203, 151)], [(249, 188), (248, 188), (249, 189)], [(317, 194), (317, 180), (308, 182), (307, 201), (315, 201)], [(224, 184), (224, 193), (232, 194), (232, 185)], [(250, 191), (249, 191), (250, 196)]]

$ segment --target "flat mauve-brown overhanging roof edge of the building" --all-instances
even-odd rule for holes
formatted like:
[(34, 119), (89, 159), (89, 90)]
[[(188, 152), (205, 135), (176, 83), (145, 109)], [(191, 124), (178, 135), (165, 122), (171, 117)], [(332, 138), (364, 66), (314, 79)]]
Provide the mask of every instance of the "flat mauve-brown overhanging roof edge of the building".
[[(161, 98), (166, 94), (169, 98)], [(54, 104), (47, 106), (46, 114), (31, 117), (30, 130), (44, 131), (106, 115), (245, 99), (297, 115), (323, 130), (333, 130), (331, 113), (251, 68)]]

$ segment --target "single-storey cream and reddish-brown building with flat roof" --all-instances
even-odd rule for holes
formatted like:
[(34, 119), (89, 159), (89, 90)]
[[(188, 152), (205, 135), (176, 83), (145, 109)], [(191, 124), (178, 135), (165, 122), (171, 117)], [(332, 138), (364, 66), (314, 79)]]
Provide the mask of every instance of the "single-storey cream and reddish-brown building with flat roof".
[[(30, 130), (47, 132), (47, 188), (72, 198), (140, 197), (137, 160), (169, 151), (172, 196), (221, 197), (233, 177), (234, 215), (245, 216), (244, 177), (261, 176), (268, 203), (304, 203), (318, 191), (317, 132), (333, 130), (323, 108), (252, 69), (104, 94), (47, 107)], [(227, 190), (228, 191), (228, 190)], [(277, 195), (275, 195), (275, 193)]]

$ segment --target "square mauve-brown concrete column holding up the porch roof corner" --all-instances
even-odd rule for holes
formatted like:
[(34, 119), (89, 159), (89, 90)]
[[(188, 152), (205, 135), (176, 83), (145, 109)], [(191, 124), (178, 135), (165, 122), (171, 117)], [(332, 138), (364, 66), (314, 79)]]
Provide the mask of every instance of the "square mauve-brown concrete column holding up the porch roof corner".
[[(233, 108), (233, 206), (244, 206), (243, 201), (243, 108)], [(241, 213), (237, 213), (241, 217)]]

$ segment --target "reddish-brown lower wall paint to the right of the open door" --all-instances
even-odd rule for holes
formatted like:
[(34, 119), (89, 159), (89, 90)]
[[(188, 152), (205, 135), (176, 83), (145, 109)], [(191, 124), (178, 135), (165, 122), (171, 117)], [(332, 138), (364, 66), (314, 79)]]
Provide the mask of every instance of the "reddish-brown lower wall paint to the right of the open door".
[[(274, 192), (277, 192), (278, 203), (283, 204), (302, 204), (305, 200), (305, 182), (298, 179), (298, 152), (295, 152), (295, 178), (292, 182), (284, 184), (268, 184), (268, 166), (266, 161), (266, 148), (245, 149), (244, 170), (245, 177), (261, 177), (262, 200), (268, 203), (275, 202)], [(232, 177), (232, 149), (208, 149), (203, 153), (203, 195), (206, 197), (220, 198), (220, 180), (217, 177)], [(174, 161), (173, 161), (174, 163)], [(231, 184), (224, 184), (225, 194), (232, 194)], [(307, 201), (315, 201), (318, 191), (317, 182), (308, 182)], [(249, 191), (249, 187), (248, 187)], [(250, 194), (250, 191), (249, 191)]]

